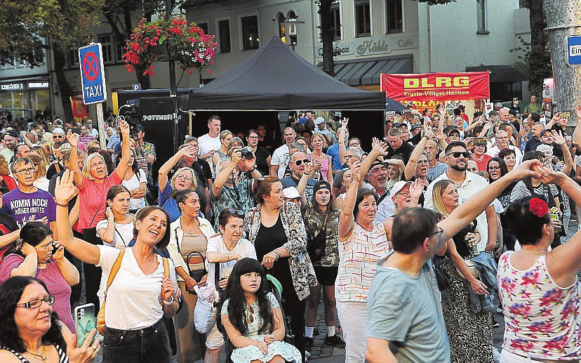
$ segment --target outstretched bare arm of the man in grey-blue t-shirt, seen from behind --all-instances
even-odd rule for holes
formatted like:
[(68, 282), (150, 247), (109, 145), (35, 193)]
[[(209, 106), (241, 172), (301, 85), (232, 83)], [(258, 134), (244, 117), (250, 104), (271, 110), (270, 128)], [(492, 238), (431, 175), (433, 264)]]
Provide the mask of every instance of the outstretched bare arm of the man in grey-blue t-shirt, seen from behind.
[(485, 187), (478, 194), (474, 194), (465, 203), (460, 204), (448, 218), (438, 223), (443, 230), (442, 239), (448, 240), (460, 232), (463, 226), (468, 225), (470, 221), (482, 213), (510, 183), (528, 177), (540, 178), (541, 173), (545, 173), (545, 171), (542, 169), (540, 161), (528, 160)]

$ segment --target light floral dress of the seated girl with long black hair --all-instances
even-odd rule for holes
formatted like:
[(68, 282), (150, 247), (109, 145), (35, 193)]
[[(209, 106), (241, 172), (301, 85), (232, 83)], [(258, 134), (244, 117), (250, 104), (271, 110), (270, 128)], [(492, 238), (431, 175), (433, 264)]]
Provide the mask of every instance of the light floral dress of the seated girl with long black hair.
[[(276, 298), (272, 293), (267, 293), (267, 298), (271, 310), (279, 308), (279, 302), (276, 301)], [(222, 305), (222, 311), (220, 312), (221, 315), (228, 315), (228, 303), (229, 299), (227, 299), (224, 302), (224, 305)], [(258, 300), (251, 305), (245, 306), (244, 310), (246, 312), (246, 322), (248, 322), (248, 333), (244, 336), (253, 341), (264, 341), (265, 334), (258, 334), (260, 326), (264, 323), (262, 317), (258, 315), (258, 309)], [(262, 353), (260, 349), (254, 345), (236, 348), (234, 349), (234, 352), (232, 352), (230, 359), (232, 359), (232, 362), (236, 363), (250, 363), (255, 360), (260, 362), (270, 362), (277, 355), (283, 357), (286, 362), (300, 363), (302, 360), (298, 349), (283, 341), (274, 341), (270, 343), (268, 345), (267, 354)]]

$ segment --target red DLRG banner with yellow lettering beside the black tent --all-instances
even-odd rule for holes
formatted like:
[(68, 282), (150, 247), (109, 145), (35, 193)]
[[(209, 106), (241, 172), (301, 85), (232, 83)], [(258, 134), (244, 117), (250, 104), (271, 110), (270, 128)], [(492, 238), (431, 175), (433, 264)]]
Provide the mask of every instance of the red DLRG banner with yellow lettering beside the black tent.
[(488, 72), (381, 74), (381, 90), (394, 100), (481, 100), (490, 81)]

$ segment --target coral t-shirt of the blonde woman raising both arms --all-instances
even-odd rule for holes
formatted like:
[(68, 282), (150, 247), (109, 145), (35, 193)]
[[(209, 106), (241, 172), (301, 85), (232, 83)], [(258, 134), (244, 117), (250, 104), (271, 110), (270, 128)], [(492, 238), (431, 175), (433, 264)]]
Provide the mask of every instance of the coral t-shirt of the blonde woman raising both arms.
[(100, 220), (105, 219), (105, 209), (107, 206), (107, 192), (113, 185), (121, 184), (121, 178), (116, 171), (107, 176), (102, 183), (88, 178), (83, 179), (79, 187), (79, 198), (81, 198), (79, 229), (86, 230), (97, 226)]

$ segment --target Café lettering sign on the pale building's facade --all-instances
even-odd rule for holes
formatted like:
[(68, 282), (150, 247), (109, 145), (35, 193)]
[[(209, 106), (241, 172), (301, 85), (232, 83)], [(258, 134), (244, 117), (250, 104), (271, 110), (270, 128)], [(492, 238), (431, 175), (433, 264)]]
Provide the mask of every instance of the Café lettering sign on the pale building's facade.
[[(385, 36), (385, 37), (365, 37), (353, 39), (353, 41), (338, 41), (333, 43), (334, 48), (341, 51), (340, 55), (355, 55), (363, 57), (367, 55), (387, 55), (394, 51), (418, 48), (419, 38), (409, 36)], [(315, 54), (323, 56), (323, 46), (315, 48)]]

